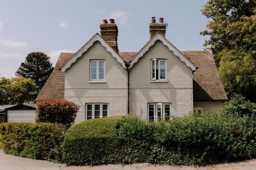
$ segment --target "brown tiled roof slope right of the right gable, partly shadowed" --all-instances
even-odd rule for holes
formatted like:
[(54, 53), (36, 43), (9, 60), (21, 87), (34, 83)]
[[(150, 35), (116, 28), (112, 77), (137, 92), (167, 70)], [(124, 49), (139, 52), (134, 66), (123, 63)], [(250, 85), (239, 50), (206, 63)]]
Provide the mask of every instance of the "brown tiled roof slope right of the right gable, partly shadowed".
[(228, 100), (211, 51), (181, 53), (198, 67), (193, 74), (194, 100)]

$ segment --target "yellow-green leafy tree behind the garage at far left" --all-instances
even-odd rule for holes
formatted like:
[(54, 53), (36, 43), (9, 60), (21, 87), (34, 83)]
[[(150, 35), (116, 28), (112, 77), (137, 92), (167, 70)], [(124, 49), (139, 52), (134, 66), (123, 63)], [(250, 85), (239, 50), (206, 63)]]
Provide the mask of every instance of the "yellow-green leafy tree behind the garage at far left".
[(34, 102), (39, 87), (30, 79), (16, 77), (0, 79), (0, 104), (13, 105)]

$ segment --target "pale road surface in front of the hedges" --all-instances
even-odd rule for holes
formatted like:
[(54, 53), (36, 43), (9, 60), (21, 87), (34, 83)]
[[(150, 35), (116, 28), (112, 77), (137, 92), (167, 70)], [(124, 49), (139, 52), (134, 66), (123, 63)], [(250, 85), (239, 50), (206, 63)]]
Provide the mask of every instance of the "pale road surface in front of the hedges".
[(2, 170), (55, 170), (55, 169), (85, 169), (85, 170), (132, 170), (132, 169), (140, 169), (140, 170), (208, 170), (208, 169), (219, 169), (219, 170), (255, 170), (256, 169), (256, 159), (239, 162), (239, 163), (229, 163), (229, 164), (220, 164), (214, 166), (206, 166), (206, 167), (174, 167), (174, 166), (158, 166), (158, 165), (150, 165), (147, 163), (139, 163), (132, 165), (106, 165), (106, 166), (69, 166), (67, 167), (65, 164), (58, 164), (44, 160), (34, 160), (28, 158), (17, 157), (13, 155), (7, 155), (0, 150), (0, 169)]

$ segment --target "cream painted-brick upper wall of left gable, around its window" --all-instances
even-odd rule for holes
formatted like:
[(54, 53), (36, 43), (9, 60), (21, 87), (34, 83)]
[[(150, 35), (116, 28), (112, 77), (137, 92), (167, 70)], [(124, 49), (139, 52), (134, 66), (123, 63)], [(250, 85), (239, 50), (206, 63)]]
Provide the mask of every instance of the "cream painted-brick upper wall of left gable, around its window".
[[(90, 78), (90, 61), (104, 61), (104, 83), (93, 83)], [(126, 87), (127, 71), (120, 63), (106, 51), (98, 41), (83, 53), (73, 65), (65, 71), (65, 90), (82, 88), (116, 88)], [(117, 83), (118, 82), (118, 83)], [(68, 93), (65, 91), (65, 96)]]

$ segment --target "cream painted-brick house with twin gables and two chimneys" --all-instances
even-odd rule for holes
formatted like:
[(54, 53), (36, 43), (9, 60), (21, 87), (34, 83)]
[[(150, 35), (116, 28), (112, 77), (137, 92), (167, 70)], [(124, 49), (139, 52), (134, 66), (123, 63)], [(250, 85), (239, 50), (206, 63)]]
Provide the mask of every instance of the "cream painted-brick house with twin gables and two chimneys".
[[(165, 120), (193, 110), (219, 111), (227, 95), (211, 51), (179, 51), (165, 38), (163, 18), (150, 23), (139, 52), (119, 52), (118, 28), (106, 19), (76, 53), (61, 53), (36, 101), (80, 105), (75, 122), (136, 115)], [(138, 38), (138, 37), (137, 37)]]

